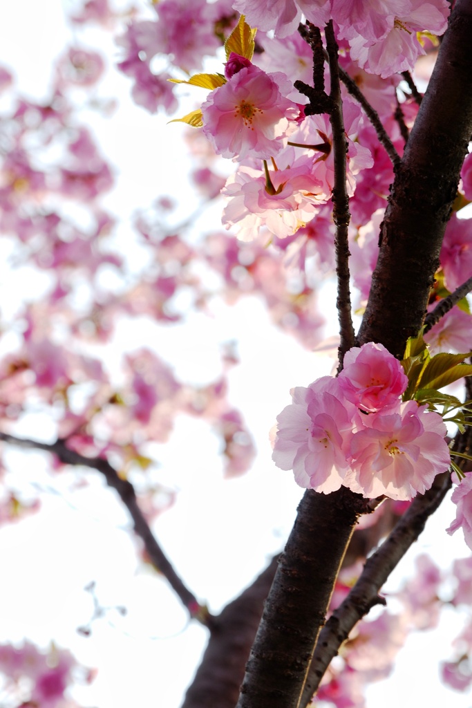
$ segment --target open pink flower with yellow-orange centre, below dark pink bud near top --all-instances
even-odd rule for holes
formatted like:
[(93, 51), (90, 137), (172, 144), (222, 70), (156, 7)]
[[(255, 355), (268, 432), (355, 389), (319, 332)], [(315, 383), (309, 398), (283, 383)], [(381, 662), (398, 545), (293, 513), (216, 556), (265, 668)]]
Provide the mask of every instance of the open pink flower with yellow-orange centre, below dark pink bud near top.
[(298, 109), (280, 93), (277, 74), (251, 65), (209, 93), (202, 105), (203, 132), (223, 157), (270, 159), (287, 144), (289, 119)]

